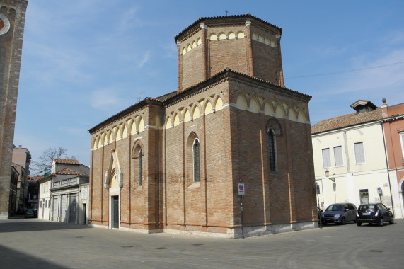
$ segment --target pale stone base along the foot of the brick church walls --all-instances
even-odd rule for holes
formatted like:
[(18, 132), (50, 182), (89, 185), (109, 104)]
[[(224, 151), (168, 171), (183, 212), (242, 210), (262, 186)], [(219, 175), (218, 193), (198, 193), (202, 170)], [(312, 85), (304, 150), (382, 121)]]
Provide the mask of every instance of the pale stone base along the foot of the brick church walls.
[[(109, 229), (108, 226), (88, 224), (88, 227), (104, 228)], [(280, 234), (289, 231), (302, 231), (307, 229), (318, 228), (318, 222), (299, 222), (292, 224), (275, 224), (268, 226), (255, 226), (255, 227), (244, 227), (244, 237), (252, 236), (265, 236), (269, 234)], [(228, 228), (226, 233), (212, 233), (205, 231), (184, 231), (176, 229), (132, 229), (126, 227), (120, 227), (121, 231), (132, 231), (139, 234), (154, 234), (154, 233), (166, 233), (166, 234), (180, 234), (180, 235), (190, 235), (190, 236), (203, 236), (203, 237), (214, 237), (214, 238), (242, 238), (241, 228)]]

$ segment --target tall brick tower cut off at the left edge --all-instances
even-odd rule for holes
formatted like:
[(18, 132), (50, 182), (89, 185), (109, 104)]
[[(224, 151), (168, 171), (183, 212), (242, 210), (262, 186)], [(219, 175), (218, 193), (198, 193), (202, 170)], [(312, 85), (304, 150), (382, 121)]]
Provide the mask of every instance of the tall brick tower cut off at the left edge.
[[(20, 77), (25, 9), (28, 1), (0, 0), (0, 14), (7, 25), (0, 29), (0, 219), (8, 218), (11, 158)], [(3, 26), (2, 26), (3, 27)]]

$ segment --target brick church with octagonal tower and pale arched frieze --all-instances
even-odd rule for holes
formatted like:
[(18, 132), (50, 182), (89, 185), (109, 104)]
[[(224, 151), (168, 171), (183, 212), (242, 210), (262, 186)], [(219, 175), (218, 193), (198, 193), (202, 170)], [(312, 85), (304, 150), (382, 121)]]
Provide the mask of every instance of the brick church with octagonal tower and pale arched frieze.
[(89, 224), (241, 237), (317, 225), (311, 96), (284, 87), (282, 28), (199, 18), (175, 36), (178, 88), (91, 134)]

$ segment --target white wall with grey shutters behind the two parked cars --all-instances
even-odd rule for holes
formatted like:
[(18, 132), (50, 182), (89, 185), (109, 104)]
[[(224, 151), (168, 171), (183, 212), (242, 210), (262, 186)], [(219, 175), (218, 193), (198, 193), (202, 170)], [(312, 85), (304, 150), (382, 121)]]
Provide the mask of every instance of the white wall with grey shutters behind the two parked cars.
[[(354, 143), (357, 142), (364, 144), (364, 164), (356, 163)], [(352, 202), (359, 206), (359, 190), (364, 189), (369, 192), (369, 202), (380, 202), (377, 193), (379, 186), (383, 190), (381, 196), (383, 204), (392, 207), (391, 185), (388, 181), (383, 133), (379, 122), (312, 135), (312, 143), (314, 173), (321, 192), (318, 195), (318, 202), (320, 205), (323, 202), (321, 208), (335, 202)], [(342, 166), (335, 166), (334, 147), (336, 146), (342, 147)], [(330, 167), (323, 167), (322, 149), (325, 148), (330, 149)], [(325, 170), (330, 172), (330, 178), (335, 178), (335, 184), (325, 178)], [(396, 202), (393, 199), (393, 203), (396, 217), (402, 217), (399, 200)]]

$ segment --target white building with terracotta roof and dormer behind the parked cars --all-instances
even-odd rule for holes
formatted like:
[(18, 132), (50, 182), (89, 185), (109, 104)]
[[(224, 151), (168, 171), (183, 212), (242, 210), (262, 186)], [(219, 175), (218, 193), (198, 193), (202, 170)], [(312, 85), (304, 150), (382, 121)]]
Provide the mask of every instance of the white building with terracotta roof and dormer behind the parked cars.
[(381, 108), (361, 100), (351, 107), (355, 113), (311, 127), (318, 205), (325, 209), (335, 202), (359, 206), (381, 201), (401, 218), (400, 203), (393, 200), (388, 176)]

